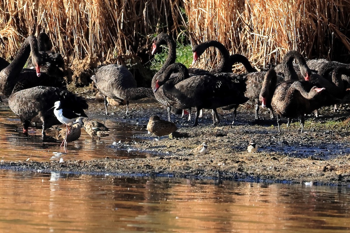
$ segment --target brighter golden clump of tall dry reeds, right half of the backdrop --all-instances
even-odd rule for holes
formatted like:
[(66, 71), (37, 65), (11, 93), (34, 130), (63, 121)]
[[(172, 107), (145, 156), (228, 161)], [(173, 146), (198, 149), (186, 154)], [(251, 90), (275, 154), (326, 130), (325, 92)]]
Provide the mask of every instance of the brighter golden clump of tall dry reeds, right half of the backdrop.
[(349, 0), (185, 0), (184, 7), (194, 43), (217, 39), (260, 66), (292, 49), (350, 62)]

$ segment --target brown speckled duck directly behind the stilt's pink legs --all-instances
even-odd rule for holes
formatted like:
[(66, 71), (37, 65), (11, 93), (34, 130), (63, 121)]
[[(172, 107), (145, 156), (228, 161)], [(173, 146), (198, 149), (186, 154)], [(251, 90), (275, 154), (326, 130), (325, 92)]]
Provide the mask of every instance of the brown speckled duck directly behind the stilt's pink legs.
[[(66, 136), (66, 125), (54, 125), (49, 129), (45, 129), (46, 135), (56, 140), (63, 140)], [(67, 135), (67, 141), (75, 141), (80, 138), (81, 129), (78, 124), (73, 124), (70, 126), (69, 134)]]

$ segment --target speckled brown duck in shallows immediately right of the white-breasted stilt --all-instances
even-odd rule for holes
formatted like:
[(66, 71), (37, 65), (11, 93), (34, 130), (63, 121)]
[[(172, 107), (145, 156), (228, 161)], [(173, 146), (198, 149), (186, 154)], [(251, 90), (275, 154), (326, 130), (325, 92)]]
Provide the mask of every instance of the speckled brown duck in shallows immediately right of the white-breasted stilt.
[(104, 124), (92, 121), (87, 117), (78, 117), (73, 123), (77, 123), (80, 127), (83, 126), (86, 133), (91, 136), (91, 139), (93, 139), (93, 137), (98, 137), (98, 140), (100, 140), (101, 137), (110, 134), (109, 129)]

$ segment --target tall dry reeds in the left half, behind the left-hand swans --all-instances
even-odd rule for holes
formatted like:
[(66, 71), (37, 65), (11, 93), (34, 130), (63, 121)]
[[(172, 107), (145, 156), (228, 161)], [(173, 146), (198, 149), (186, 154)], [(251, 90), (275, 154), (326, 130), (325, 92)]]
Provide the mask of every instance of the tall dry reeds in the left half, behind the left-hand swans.
[[(178, 0), (8, 0), (0, 3), (0, 55), (11, 59), (28, 35), (45, 31), (72, 64), (86, 56), (123, 62), (148, 36), (173, 30)], [(152, 39), (152, 38), (151, 38)]]

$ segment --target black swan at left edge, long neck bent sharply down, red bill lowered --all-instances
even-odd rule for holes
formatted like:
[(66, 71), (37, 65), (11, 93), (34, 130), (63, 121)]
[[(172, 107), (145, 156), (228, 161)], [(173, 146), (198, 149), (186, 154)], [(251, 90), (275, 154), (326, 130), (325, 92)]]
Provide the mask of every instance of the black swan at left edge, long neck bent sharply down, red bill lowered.
[[(35, 64), (35, 70), (22, 69), (30, 53), (32, 61)], [(62, 88), (60, 79), (51, 78), (49, 75), (40, 72), (41, 65), (42, 62), (38, 54), (36, 38), (29, 36), (22, 43), (13, 61), (0, 72), (0, 92), (9, 96), (14, 91), (40, 85)]]

